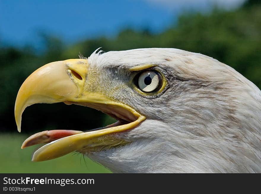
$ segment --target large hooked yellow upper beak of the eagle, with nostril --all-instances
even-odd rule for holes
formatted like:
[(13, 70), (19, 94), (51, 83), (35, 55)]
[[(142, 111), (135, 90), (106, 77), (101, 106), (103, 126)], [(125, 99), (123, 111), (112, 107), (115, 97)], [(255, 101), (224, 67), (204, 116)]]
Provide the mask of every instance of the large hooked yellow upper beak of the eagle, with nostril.
[(21, 132), (22, 113), (36, 103), (74, 101), (83, 90), (88, 62), (70, 59), (51, 62), (32, 73), (20, 87), (15, 101), (15, 120)]

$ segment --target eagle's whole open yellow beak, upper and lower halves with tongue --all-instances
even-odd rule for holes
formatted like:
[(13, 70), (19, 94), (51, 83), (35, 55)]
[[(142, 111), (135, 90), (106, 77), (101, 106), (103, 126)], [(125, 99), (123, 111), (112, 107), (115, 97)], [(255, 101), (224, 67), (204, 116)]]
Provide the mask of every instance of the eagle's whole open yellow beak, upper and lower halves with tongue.
[(32, 161), (50, 160), (73, 151), (99, 151), (126, 144), (128, 141), (117, 139), (111, 134), (135, 128), (145, 119), (130, 106), (96, 92), (97, 86), (90, 84), (95, 82), (87, 76), (88, 69), (87, 59), (69, 59), (49, 63), (32, 73), (20, 87), (15, 102), (18, 131), (21, 131), (23, 111), (35, 103), (83, 105), (100, 110), (118, 121), (88, 132), (52, 130), (36, 133), (25, 140), (22, 148), (39, 143), (47, 144), (36, 150)]

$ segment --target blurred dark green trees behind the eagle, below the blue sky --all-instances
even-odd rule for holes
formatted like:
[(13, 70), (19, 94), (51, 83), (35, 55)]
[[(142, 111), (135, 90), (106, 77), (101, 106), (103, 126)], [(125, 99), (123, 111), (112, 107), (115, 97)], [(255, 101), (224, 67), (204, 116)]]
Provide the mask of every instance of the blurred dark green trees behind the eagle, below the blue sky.
[[(30, 47), (23, 50), (0, 47), (2, 130), (16, 130), (15, 98), (19, 87), (30, 73), (48, 62), (78, 58), (79, 52), (89, 56), (98, 47), (102, 47), (104, 51), (166, 47), (199, 52), (232, 66), (261, 88), (259, 0), (249, 0), (241, 8), (229, 12), (214, 9), (209, 14), (184, 13), (176, 25), (160, 34), (152, 34), (148, 30), (126, 29), (114, 39), (101, 37), (68, 46), (60, 39), (45, 36), (45, 43), (46, 49), (42, 54), (35, 54)], [(98, 111), (85, 107), (68, 108), (63, 104), (34, 105), (26, 109), (23, 115), (22, 131), (85, 130), (101, 126), (99, 120), (103, 117)]]

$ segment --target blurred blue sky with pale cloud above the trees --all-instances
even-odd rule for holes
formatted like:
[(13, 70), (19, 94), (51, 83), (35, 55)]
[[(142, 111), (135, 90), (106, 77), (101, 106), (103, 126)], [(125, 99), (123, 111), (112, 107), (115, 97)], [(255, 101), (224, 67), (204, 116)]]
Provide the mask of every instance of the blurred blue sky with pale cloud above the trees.
[(114, 36), (124, 28), (158, 33), (174, 25), (184, 9), (209, 10), (217, 4), (233, 9), (244, 0), (0, 0), (0, 41), (36, 45), (39, 32), (67, 43)]

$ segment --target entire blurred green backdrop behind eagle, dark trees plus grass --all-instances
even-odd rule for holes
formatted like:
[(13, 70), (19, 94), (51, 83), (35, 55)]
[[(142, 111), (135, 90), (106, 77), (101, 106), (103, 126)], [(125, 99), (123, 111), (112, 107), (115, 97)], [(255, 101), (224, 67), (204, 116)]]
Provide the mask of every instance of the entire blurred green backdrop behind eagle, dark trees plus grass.
[[(45, 162), (31, 162), (37, 148), (20, 146), (29, 135), (50, 129), (87, 130), (112, 123), (99, 111), (63, 103), (37, 104), (23, 113), (22, 132), (16, 131), (14, 103), (23, 81), (37, 68), (52, 61), (88, 57), (95, 49), (104, 51), (166, 47), (198, 52), (235, 68), (261, 88), (261, 3), (245, 1), (236, 9), (214, 7), (208, 12), (182, 12), (160, 33), (149, 29), (125, 28), (117, 35), (99, 36), (67, 43), (58, 36), (42, 33), (44, 49), (31, 45), (0, 45), (0, 172), (1, 173), (94, 173), (109, 172), (80, 154), (69, 154)], [(72, 122), (65, 122), (65, 121)]]

